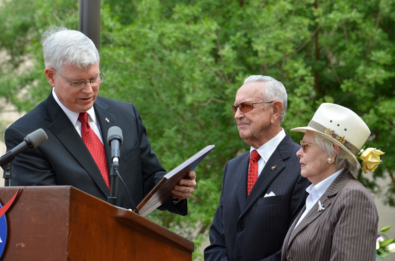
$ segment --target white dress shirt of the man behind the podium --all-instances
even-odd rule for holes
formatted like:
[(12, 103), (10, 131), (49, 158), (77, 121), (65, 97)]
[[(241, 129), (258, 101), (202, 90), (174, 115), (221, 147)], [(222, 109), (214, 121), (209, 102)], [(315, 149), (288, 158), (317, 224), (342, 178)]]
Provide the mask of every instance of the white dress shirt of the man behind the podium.
[[(56, 100), (56, 102), (59, 104), (59, 106), (62, 108), (62, 110), (65, 112), (65, 114), (67, 115), (73, 126), (78, 131), (79, 136), (81, 136), (81, 122), (78, 120), (79, 113), (69, 110), (68, 108), (66, 108), (65, 105), (63, 105), (62, 102), (60, 102), (59, 98), (56, 96), (55, 88), (52, 88), (52, 95), (53, 98)], [(102, 134), (100, 132), (100, 125), (96, 119), (95, 109), (92, 106), (92, 108), (90, 108), (86, 112), (89, 114), (88, 123), (90, 125), (90, 128), (96, 133), (100, 141), (103, 143)]]

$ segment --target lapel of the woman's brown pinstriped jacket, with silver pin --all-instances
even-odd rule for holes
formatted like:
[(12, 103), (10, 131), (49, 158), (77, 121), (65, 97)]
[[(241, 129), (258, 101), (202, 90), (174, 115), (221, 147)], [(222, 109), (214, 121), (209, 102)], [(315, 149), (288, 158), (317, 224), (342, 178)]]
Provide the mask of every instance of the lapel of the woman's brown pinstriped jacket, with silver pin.
[[(341, 172), (339, 176), (336, 177), (336, 179), (332, 182), (332, 184), (328, 187), (326, 192), (319, 198), (319, 201), (322, 204), (322, 207), (324, 207), (324, 210), (318, 211), (318, 202), (313, 205), (312, 209), (310, 209), (309, 213), (305, 216), (305, 218), (300, 222), (300, 224), (294, 229), (294, 231), (291, 234), (291, 237), (288, 242), (288, 246), (290, 246), (292, 240), (297, 236), (298, 233), (303, 231), (307, 226), (309, 226), (316, 218), (318, 218), (320, 215), (327, 215), (327, 212), (325, 211), (330, 211), (329, 206), (331, 205), (333, 201), (333, 197), (337, 195), (337, 193), (346, 185), (347, 181), (349, 181), (352, 178), (352, 175), (350, 172)], [(304, 207), (306, 209), (306, 205)], [(302, 212), (303, 213), (303, 212)], [(298, 222), (300, 216), (302, 215), (300, 213), (298, 215), (298, 218), (295, 219), (295, 225)]]

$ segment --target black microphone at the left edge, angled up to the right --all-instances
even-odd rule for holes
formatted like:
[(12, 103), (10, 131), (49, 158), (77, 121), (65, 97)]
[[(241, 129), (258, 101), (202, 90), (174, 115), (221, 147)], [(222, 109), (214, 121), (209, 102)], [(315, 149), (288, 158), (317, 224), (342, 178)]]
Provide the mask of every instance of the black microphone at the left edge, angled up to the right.
[(27, 149), (37, 148), (42, 142), (48, 139), (45, 131), (42, 129), (38, 129), (28, 134), (19, 145), (15, 146), (13, 149), (8, 151), (6, 154), (1, 156), (0, 158), (0, 166), (11, 162), (16, 155), (21, 152), (24, 152)]

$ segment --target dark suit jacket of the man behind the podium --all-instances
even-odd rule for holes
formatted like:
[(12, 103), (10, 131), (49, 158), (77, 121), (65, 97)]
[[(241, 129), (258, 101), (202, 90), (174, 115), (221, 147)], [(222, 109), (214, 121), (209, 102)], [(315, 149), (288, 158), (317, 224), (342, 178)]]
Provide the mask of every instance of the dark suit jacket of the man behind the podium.
[[(100, 125), (109, 169), (111, 147), (107, 143), (107, 132), (112, 126), (118, 126), (122, 130), (119, 173), (133, 201), (138, 204), (166, 173), (151, 149), (140, 114), (133, 104), (110, 98), (98, 97), (93, 106)], [(99, 168), (52, 93), (5, 130), (7, 150), (15, 147), (27, 134), (39, 128), (46, 132), (48, 140), (38, 148), (29, 149), (15, 157), (11, 185), (71, 185), (107, 200), (110, 192)], [(120, 182), (116, 189), (117, 205), (132, 208), (129, 196)], [(186, 200), (183, 201), (176, 204), (178, 209), (171, 198), (162, 206), (171, 212), (185, 215)]]

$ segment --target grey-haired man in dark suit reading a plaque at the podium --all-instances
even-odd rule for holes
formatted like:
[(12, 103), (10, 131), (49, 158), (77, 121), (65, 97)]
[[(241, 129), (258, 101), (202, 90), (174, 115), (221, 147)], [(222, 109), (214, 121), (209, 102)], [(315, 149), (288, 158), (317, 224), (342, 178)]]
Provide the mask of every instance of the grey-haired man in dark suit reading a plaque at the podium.
[[(112, 165), (107, 133), (117, 126), (123, 134), (119, 173), (132, 200), (117, 182), (113, 185), (116, 204), (134, 208), (134, 203), (139, 203), (166, 174), (151, 148), (137, 108), (98, 96), (106, 76), (99, 66), (97, 48), (83, 33), (51, 28), (43, 34), (42, 47), (44, 72), (52, 90), (48, 98), (5, 130), (4, 136), (7, 151), (40, 128), (48, 139), (15, 157), (11, 186), (71, 185), (107, 200)], [(186, 215), (186, 198), (195, 187), (196, 173), (190, 171), (159, 209)]]

